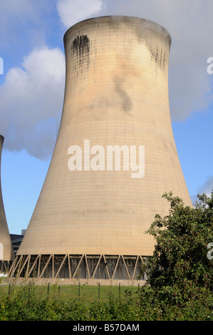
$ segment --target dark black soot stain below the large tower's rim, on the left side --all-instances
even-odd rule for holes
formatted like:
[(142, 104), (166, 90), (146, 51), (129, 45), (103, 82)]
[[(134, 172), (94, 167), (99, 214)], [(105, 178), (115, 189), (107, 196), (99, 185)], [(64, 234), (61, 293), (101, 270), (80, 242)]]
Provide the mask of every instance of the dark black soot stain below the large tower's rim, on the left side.
[(79, 59), (79, 63), (90, 63), (90, 40), (87, 35), (76, 36), (71, 45), (73, 55)]

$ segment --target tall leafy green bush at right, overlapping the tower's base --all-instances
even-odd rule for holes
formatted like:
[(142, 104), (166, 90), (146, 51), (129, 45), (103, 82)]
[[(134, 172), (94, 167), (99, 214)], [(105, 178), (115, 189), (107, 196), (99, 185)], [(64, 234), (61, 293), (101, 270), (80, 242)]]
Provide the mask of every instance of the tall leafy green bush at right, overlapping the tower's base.
[(155, 215), (147, 230), (156, 244), (142, 265), (146, 286), (164, 319), (212, 320), (213, 260), (207, 245), (213, 242), (213, 192), (198, 195), (194, 208), (172, 192), (162, 197), (170, 202), (170, 213)]

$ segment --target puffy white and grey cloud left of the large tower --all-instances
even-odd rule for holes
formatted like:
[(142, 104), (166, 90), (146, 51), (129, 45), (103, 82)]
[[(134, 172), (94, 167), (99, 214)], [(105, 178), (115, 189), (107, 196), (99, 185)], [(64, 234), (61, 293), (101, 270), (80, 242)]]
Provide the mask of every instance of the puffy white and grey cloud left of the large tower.
[(0, 125), (5, 148), (48, 158), (63, 107), (65, 60), (59, 48), (43, 47), (11, 68), (0, 86)]

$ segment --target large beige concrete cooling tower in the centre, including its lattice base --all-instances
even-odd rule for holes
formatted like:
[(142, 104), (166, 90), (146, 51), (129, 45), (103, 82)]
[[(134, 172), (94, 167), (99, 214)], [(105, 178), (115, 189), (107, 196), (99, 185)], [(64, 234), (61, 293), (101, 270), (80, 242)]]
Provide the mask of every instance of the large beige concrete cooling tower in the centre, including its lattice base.
[(167, 215), (162, 194), (192, 205), (170, 120), (170, 34), (104, 16), (64, 35), (66, 87), (50, 166), (11, 276), (136, 279)]

